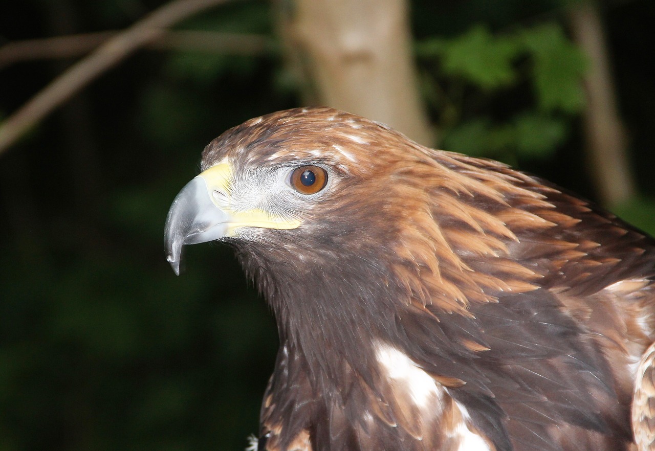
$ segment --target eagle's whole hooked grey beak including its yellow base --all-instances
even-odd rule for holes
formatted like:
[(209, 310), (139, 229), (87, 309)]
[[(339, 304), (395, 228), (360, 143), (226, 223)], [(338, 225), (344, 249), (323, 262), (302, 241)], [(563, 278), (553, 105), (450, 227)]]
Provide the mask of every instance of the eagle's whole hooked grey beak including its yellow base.
[(227, 160), (212, 166), (185, 185), (173, 200), (166, 217), (166, 260), (179, 276), (182, 247), (235, 236), (238, 228), (291, 229), (297, 219), (276, 217), (261, 209), (234, 211), (229, 184), (232, 168)]

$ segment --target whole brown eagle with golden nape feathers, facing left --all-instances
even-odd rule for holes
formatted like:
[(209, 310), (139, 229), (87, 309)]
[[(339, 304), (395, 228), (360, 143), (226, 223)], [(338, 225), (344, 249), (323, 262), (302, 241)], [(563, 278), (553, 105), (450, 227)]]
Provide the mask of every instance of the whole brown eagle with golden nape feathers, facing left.
[(291, 109), (204, 149), (168, 261), (213, 240), (278, 325), (260, 451), (650, 445), (655, 242), (548, 181)]

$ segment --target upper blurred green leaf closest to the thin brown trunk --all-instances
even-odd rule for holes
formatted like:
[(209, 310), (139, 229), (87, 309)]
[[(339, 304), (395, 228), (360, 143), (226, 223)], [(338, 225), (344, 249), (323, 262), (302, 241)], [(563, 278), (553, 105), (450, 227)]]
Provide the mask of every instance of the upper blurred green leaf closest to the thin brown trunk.
[(548, 24), (522, 33), (534, 61), (534, 88), (542, 111), (578, 113), (584, 106), (584, 54), (567, 39), (561, 27)]

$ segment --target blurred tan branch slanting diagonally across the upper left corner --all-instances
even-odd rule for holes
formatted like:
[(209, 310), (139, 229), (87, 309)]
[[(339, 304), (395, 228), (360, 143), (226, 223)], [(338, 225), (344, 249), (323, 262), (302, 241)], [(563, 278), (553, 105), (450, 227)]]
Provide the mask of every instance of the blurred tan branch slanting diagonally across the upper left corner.
[(0, 124), (0, 154), (54, 108), (129, 54), (162, 36), (164, 28), (233, 0), (174, 0), (110, 38), (98, 50), (50, 82)]

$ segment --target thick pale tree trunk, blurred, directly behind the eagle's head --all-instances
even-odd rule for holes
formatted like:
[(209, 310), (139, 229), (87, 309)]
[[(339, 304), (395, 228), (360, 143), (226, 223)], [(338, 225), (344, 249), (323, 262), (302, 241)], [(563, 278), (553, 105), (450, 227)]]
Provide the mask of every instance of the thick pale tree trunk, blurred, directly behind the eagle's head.
[(421, 104), (405, 0), (282, 0), (280, 33), (304, 101), (434, 134)]

